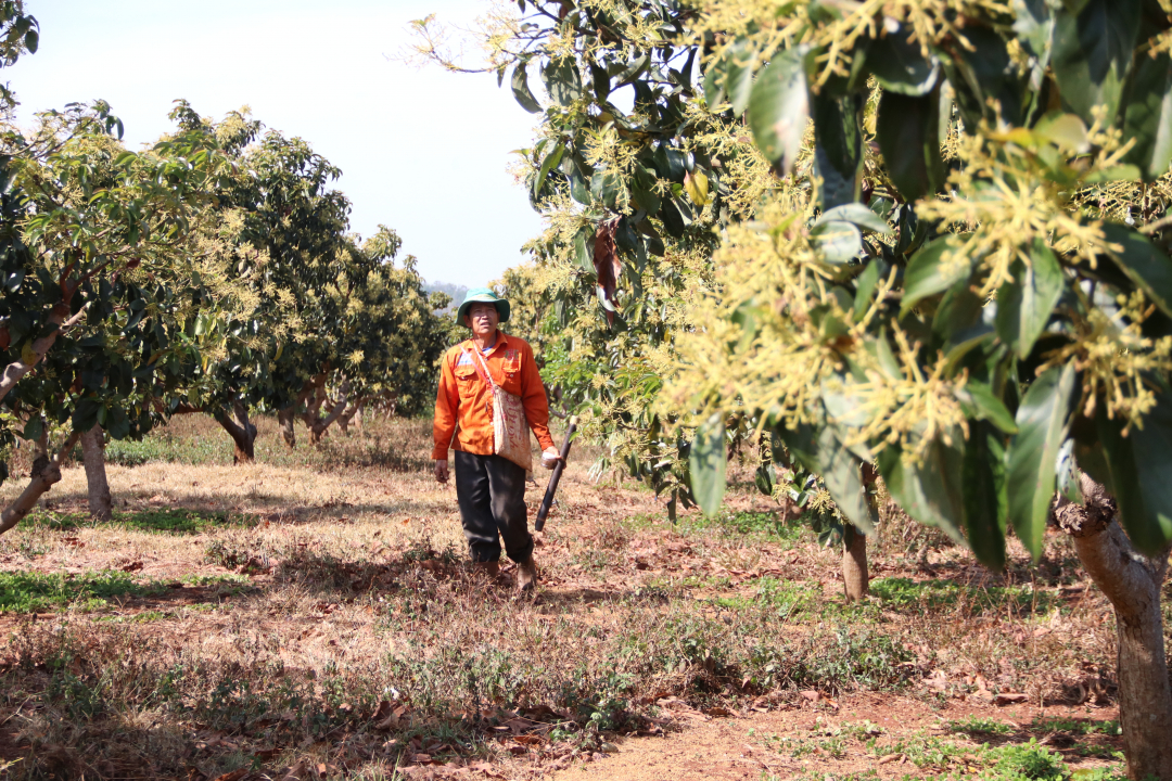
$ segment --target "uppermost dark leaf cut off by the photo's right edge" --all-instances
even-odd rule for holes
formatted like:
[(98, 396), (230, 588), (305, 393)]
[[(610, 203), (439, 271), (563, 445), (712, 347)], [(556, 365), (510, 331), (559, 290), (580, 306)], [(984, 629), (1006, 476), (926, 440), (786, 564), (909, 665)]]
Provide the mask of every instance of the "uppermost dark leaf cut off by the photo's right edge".
[(1167, 172), (1172, 163), (1172, 56), (1167, 52), (1136, 57), (1123, 137), (1134, 144), (1124, 159), (1142, 171), (1144, 181)]

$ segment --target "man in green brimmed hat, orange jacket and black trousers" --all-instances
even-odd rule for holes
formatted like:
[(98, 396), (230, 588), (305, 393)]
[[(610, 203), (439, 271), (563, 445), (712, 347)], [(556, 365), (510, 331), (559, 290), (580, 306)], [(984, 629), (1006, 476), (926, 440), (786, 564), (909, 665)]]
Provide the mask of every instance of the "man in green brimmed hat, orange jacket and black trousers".
[(448, 482), (448, 446), (456, 451), (456, 500), (473, 566), (496, 577), (503, 539), (505, 552), (517, 562), (518, 589), (529, 591), (537, 583), (537, 568), (525, 509), (525, 468), (493, 454), (492, 389), (471, 354), (481, 354), (496, 384), (522, 398), (525, 419), (541, 446), (541, 465), (552, 470), (558, 450), (550, 437), (550, 405), (533, 350), (497, 328), (509, 321), (509, 301), (489, 288), (469, 290), (459, 304), (456, 322), (470, 328), (472, 337), (444, 354), (431, 458), (436, 480)]

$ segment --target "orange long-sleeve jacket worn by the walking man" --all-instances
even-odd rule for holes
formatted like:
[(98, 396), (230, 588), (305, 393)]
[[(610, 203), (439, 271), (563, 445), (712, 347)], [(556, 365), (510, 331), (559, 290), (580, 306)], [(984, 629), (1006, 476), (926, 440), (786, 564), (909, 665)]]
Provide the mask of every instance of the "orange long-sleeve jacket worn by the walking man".
[[(492, 454), (492, 390), (476, 372), (476, 365), (464, 354), (478, 349), (476, 342), (465, 340), (449, 349), (440, 370), (440, 392), (436, 395), (436, 416), (432, 424), (436, 461), (448, 459), (448, 447), (475, 453)], [(497, 342), (484, 355), (492, 382), (507, 392), (520, 396), (525, 419), (537, 436), (541, 450), (553, 447), (550, 436), (550, 403), (537, 371), (533, 348), (516, 336), (497, 331)], [(455, 440), (452, 440), (455, 434)]]

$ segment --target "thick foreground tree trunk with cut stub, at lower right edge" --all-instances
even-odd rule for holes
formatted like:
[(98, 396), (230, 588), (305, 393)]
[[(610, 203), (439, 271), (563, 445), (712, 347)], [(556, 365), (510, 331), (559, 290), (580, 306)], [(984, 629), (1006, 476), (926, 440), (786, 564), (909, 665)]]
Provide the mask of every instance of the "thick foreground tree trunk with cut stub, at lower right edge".
[(1168, 549), (1154, 559), (1140, 555), (1116, 521), (1115, 499), (1085, 474), (1079, 482), (1084, 502), (1059, 500), (1055, 518), (1074, 537), (1083, 567), (1115, 608), (1127, 777), (1172, 779), (1172, 686), (1160, 615)]

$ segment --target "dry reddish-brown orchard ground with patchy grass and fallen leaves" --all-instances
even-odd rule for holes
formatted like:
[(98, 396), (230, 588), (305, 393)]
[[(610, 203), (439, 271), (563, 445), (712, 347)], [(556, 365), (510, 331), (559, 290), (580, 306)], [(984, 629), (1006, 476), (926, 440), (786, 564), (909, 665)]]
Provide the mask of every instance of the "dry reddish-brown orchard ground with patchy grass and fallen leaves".
[(203, 419), (114, 443), (114, 523), (75, 466), (0, 537), (0, 777), (1118, 770), (1113, 619), (1058, 536), (993, 575), (887, 513), (847, 605), (751, 480), (673, 525), (580, 446), (517, 600), (463, 563), (427, 422), (278, 439), (239, 467)]

